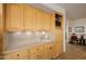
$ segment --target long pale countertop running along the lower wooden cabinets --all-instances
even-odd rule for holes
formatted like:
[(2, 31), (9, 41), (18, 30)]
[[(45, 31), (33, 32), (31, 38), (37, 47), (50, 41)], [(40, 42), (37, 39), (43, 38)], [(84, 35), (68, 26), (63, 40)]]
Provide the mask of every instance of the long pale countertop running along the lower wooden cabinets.
[(3, 51), (3, 53), (9, 53), (9, 52), (16, 52), (16, 51), (21, 51), (21, 50), (25, 50), (25, 49), (29, 49), (33, 48), (35, 46), (39, 46), (39, 44), (44, 44), (44, 43), (49, 43), (52, 41), (48, 41), (48, 42), (36, 42), (36, 43), (23, 43), (21, 46), (14, 46), (14, 47), (8, 47), (7, 50)]

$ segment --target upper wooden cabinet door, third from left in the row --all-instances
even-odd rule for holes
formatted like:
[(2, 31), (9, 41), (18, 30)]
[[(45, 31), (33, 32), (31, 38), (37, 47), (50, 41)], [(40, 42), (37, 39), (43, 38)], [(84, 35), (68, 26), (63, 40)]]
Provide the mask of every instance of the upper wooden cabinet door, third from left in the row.
[(35, 29), (44, 29), (44, 12), (37, 9), (35, 10)]

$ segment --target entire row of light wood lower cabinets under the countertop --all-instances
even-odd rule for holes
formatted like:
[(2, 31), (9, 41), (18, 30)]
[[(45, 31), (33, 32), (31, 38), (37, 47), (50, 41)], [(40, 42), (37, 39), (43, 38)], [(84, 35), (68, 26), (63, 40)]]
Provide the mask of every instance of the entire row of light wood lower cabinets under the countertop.
[(53, 56), (56, 56), (54, 43), (48, 42), (23, 51), (5, 53), (4, 60), (51, 60)]

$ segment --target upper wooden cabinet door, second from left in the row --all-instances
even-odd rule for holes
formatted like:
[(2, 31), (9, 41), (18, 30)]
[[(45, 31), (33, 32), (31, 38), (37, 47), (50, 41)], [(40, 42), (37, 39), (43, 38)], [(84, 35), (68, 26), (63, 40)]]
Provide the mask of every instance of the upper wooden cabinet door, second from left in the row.
[(23, 26), (25, 30), (34, 30), (35, 26), (35, 9), (30, 5), (24, 4), (23, 7)]

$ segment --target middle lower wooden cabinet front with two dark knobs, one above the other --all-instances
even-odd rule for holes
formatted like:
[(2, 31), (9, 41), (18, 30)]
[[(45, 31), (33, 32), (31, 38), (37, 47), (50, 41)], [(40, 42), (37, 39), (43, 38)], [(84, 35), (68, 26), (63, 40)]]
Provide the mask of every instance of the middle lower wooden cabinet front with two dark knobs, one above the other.
[(42, 53), (42, 46), (36, 46), (34, 48), (30, 48), (28, 50), (29, 52), (29, 60), (41, 60), (41, 53)]

